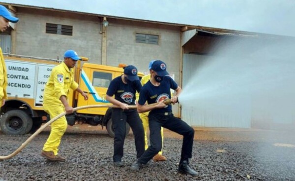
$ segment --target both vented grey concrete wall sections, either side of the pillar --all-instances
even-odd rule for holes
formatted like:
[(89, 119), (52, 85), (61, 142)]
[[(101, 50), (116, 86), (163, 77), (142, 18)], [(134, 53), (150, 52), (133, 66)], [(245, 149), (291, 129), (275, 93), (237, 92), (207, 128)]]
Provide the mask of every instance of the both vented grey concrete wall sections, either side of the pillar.
[[(62, 59), (67, 49), (74, 49), (89, 62), (101, 64), (101, 17), (39, 9), (18, 8), (15, 54)], [(135, 65), (148, 73), (150, 60), (162, 60), (179, 83), (180, 27), (108, 19), (107, 65)], [(46, 34), (46, 23), (73, 26), (73, 36)], [(159, 44), (136, 43), (135, 34), (159, 36)]]

